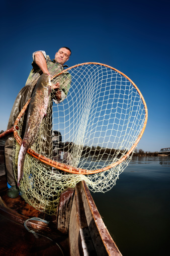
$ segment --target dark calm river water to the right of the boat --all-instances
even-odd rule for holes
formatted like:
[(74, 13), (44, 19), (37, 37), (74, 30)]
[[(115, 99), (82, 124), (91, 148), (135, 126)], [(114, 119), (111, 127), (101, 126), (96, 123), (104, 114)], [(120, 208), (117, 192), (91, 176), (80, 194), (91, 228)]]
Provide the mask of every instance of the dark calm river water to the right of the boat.
[(123, 256), (169, 255), (170, 156), (133, 157), (110, 191), (91, 194)]

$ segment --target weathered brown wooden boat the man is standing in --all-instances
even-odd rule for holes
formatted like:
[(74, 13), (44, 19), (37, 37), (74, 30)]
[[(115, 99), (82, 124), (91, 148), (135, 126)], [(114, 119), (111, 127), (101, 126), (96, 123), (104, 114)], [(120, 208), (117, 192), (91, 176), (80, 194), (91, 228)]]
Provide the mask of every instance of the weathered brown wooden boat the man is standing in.
[(86, 182), (65, 189), (56, 215), (7, 195), (4, 145), (0, 145), (1, 255), (122, 255), (109, 234)]

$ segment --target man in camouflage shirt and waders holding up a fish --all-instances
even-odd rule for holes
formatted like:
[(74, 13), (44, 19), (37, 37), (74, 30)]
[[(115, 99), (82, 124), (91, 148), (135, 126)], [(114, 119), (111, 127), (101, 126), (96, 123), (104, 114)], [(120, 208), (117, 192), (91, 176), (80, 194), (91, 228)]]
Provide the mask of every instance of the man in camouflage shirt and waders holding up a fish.
[[(61, 47), (58, 50), (58, 52), (55, 54), (55, 59), (52, 61), (43, 50), (39, 50), (33, 53), (33, 62), (32, 62), (33, 69), (30, 72), (26, 85), (20, 90), (15, 100), (7, 129), (10, 129), (14, 126), (14, 123), (19, 113), (21, 112), (21, 110), (23, 109), (23, 107), (31, 97), (38, 78), (43, 73), (47, 73), (51, 77), (56, 74), (59, 74), (64, 69), (64, 67), (68, 67), (63, 64), (69, 60), (70, 55), (71, 55), (71, 50), (68, 47)], [(52, 98), (56, 104), (63, 101), (64, 98), (67, 96), (70, 84), (71, 84), (71, 79), (70, 79), (69, 73), (58, 77), (57, 81), (53, 82), (52, 89), (54, 90), (54, 93)], [(52, 108), (51, 108), (51, 111), (52, 111)], [(5, 144), (7, 180), (9, 185), (11, 186), (7, 194), (11, 198), (16, 198), (17, 196), (19, 196), (19, 188), (16, 185), (16, 180), (15, 180), (15, 175), (13, 170), (13, 143), (14, 143), (14, 136), (13, 134), (11, 134), (7, 137), (6, 144)]]

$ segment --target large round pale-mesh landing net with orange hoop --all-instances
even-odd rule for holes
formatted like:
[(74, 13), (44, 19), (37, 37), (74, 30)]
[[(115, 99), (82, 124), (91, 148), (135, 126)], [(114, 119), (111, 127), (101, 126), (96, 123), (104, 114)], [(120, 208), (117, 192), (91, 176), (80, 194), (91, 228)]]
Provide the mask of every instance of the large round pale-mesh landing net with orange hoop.
[[(68, 95), (60, 104), (50, 98), (47, 115), (31, 147), (41, 158), (50, 159), (51, 166), (27, 153), (20, 182), (22, 197), (48, 214), (56, 214), (61, 191), (81, 180), (91, 191), (110, 190), (131, 160), (147, 120), (139, 89), (118, 70), (88, 63), (64, 72), (71, 75)], [(18, 123), (20, 137), (25, 119), (26, 113)], [(16, 141), (16, 178), (19, 150)]]

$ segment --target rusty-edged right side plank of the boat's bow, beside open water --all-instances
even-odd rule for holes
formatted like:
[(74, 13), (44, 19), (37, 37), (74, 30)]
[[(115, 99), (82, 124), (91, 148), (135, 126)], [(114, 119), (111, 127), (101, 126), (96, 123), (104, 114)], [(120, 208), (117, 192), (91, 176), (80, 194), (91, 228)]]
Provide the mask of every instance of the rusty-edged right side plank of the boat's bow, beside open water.
[(80, 185), (83, 207), (97, 254), (101, 256), (122, 255), (98, 212), (86, 182), (82, 181)]

